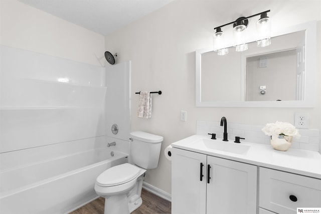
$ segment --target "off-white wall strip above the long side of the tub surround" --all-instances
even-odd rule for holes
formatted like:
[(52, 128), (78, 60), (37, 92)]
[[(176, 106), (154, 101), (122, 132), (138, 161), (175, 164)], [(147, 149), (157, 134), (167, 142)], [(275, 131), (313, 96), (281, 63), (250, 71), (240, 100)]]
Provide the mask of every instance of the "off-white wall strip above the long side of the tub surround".
[(103, 66), (104, 37), (16, 0), (0, 1), (1, 45)]

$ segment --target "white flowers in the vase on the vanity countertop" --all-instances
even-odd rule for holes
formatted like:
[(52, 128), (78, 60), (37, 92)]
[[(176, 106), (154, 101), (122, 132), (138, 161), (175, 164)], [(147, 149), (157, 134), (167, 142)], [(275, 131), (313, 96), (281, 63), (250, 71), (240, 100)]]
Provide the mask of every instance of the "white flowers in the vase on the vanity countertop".
[(299, 138), (301, 135), (298, 130), (291, 124), (287, 122), (278, 122), (267, 123), (262, 131), (269, 136), (275, 135), (284, 135), (284, 136), (293, 136)]

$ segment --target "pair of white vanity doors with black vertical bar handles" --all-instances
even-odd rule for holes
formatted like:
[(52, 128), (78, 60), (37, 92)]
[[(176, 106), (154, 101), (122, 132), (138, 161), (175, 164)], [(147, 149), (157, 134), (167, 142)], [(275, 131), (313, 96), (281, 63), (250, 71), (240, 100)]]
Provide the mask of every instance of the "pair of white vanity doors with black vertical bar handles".
[(257, 166), (172, 149), (172, 213), (256, 213)]

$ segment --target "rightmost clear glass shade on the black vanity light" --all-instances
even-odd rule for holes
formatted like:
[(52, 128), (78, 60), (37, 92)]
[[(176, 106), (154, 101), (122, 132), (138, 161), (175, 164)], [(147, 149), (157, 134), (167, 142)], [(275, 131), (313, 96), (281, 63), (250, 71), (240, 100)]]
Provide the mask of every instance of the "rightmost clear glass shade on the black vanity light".
[(258, 47), (265, 47), (271, 44), (270, 18), (264, 17), (256, 22), (256, 42)]

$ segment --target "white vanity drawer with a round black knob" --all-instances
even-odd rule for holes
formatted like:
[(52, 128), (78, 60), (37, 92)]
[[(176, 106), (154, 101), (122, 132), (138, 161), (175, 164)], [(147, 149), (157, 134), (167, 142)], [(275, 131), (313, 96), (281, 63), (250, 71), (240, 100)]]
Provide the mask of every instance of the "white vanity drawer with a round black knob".
[(321, 206), (321, 179), (260, 167), (259, 206), (277, 213)]

